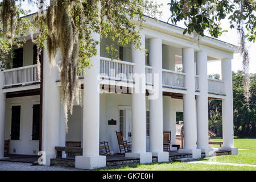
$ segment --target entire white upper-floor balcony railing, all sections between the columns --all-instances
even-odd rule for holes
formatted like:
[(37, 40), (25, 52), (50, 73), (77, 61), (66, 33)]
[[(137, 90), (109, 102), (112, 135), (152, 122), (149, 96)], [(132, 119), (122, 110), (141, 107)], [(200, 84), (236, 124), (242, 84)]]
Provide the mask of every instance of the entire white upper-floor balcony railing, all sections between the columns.
[[(60, 63), (59, 63), (60, 64)], [(100, 58), (100, 75), (101, 78), (116, 81), (133, 82), (134, 63), (127, 61), (111, 60), (106, 57)], [(61, 65), (60, 65), (61, 66)], [(26, 67), (6, 69), (4, 73), (3, 86), (26, 85), (40, 82), (36, 65)], [(145, 66), (146, 83), (152, 84), (152, 67)], [(175, 72), (163, 69), (162, 79), (163, 86), (174, 89), (185, 89), (185, 75), (183, 72)], [(79, 77), (84, 76), (78, 73)], [(60, 79), (60, 77), (58, 77)], [(214, 94), (225, 94), (223, 80), (208, 78), (208, 92)], [(195, 76), (195, 88), (199, 90), (199, 76)]]

